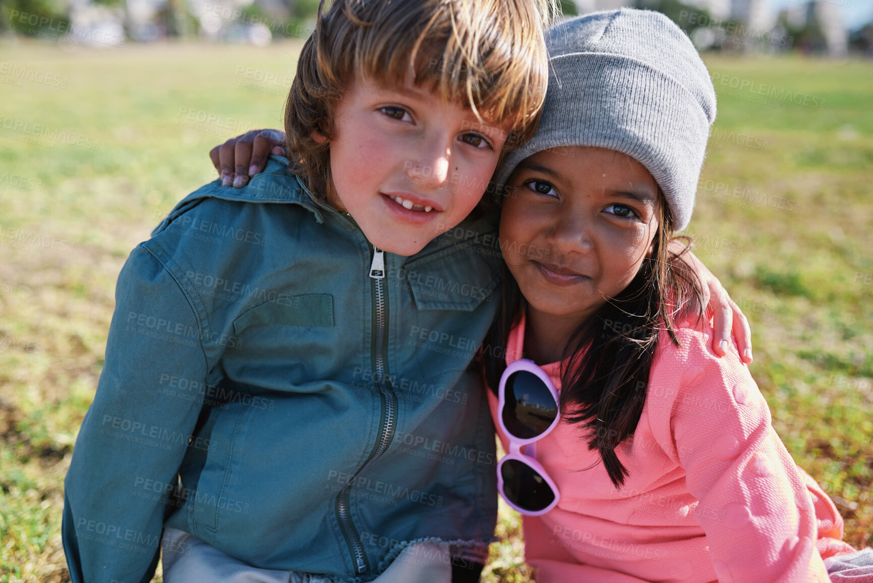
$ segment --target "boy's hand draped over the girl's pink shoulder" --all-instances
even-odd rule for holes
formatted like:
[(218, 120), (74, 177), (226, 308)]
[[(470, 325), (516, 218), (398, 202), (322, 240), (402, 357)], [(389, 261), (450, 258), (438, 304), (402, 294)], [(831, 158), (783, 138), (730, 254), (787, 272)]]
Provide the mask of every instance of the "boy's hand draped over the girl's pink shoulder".
[(739, 358), (744, 363), (752, 362), (752, 330), (746, 315), (736, 302), (727, 294), (727, 290), (721, 285), (721, 281), (706, 268), (706, 266), (691, 251), (684, 253), (683, 259), (698, 274), (703, 284), (704, 305), (712, 312), (712, 327), (715, 334), (712, 335), (712, 351), (717, 356), (727, 354), (727, 347), (731, 342), (731, 333), (737, 341)]

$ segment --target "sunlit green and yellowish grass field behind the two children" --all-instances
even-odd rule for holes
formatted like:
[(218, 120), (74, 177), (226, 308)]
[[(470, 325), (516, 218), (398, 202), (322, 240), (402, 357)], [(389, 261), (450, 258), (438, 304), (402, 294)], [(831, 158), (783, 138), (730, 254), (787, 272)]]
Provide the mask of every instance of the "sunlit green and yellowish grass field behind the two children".
[[(298, 49), (0, 45), (0, 583), (69, 580), (63, 478), (120, 267), (214, 178), (213, 145), (281, 127)], [(752, 323), (773, 426), (844, 539), (873, 545), (873, 63), (707, 62), (718, 121), (687, 233)], [(505, 507), (498, 534), (484, 580), (531, 580)]]

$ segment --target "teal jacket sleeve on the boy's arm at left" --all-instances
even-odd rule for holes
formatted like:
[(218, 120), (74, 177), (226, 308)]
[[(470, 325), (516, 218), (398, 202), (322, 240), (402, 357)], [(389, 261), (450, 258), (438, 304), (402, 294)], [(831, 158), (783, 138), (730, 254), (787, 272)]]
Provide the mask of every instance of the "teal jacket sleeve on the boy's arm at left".
[(209, 368), (203, 310), (189, 300), (155, 255), (134, 249), (119, 275), (106, 363), (64, 482), (72, 583), (148, 583), (155, 573), (202, 403), (177, 387), (203, 386), (191, 384), (205, 383)]

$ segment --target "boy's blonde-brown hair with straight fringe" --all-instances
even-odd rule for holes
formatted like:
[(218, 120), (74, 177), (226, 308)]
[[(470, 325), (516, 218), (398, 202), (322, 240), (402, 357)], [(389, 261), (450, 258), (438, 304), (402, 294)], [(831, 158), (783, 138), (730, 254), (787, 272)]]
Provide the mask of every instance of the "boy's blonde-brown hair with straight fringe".
[[(300, 52), (285, 107), (292, 169), (324, 200), (333, 110), (354, 79), (430, 84), (446, 101), (510, 129), (504, 153), (536, 128), (546, 96), (544, 27), (555, 0), (333, 0)], [(316, 142), (313, 134), (327, 142)], [(502, 156), (501, 156), (502, 157)]]

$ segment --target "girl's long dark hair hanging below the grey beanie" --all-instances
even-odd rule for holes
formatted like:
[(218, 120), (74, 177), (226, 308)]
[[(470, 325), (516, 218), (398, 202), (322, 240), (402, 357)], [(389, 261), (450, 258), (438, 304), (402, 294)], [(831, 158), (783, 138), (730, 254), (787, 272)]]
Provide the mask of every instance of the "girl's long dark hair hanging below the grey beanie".
[[(628, 475), (615, 448), (634, 434), (643, 413), (658, 338), (666, 334), (678, 346), (674, 318), (703, 316), (700, 281), (684, 260), (691, 241), (683, 238), (681, 251), (671, 252), (668, 243), (676, 239), (668, 235), (669, 217), (661, 215), (653, 252), (636, 278), (574, 330), (564, 350), (561, 416), (583, 424), (588, 448), (600, 452), (615, 488)], [(504, 268), (498, 316), (485, 338), (485, 378), (495, 392), (506, 368), (509, 332), (526, 309), (518, 283)]]

